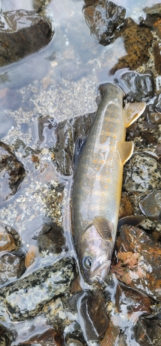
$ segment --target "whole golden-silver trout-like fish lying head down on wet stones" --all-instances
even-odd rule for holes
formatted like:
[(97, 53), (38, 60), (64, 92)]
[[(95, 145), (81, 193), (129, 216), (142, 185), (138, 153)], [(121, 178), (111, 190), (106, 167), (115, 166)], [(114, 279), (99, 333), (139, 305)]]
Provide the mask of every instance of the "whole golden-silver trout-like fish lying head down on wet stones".
[(73, 182), (73, 231), (79, 266), (88, 284), (102, 284), (111, 267), (122, 192), (123, 166), (133, 154), (126, 128), (145, 102), (126, 103), (117, 84), (102, 84), (102, 100), (79, 157)]

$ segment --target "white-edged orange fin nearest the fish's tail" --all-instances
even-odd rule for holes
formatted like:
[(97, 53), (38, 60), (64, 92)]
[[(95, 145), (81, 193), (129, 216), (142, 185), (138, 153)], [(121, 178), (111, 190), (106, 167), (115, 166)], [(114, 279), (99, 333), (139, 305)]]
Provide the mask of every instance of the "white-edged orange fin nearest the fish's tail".
[(145, 102), (126, 103), (126, 106), (124, 107), (125, 127), (129, 127), (133, 124), (133, 122), (142, 115), (145, 107)]

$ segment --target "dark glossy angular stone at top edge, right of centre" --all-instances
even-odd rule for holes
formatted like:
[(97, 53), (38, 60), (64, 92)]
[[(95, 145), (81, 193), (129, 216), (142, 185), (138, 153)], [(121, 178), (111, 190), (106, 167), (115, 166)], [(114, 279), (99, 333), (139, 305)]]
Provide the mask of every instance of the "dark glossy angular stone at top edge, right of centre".
[(111, 43), (116, 28), (124, 25), (126, 10), (112, 1), (100, 0), (84, 10), (86, 24), (97, 42), (106, 46)]

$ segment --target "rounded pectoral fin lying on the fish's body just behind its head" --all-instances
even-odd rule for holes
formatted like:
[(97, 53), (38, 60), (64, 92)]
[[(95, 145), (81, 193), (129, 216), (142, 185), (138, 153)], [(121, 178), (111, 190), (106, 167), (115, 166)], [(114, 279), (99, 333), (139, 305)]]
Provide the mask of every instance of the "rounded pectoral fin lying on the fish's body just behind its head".
[(93, 225), (103, 239), (105, 239), (107, 242), (111, 242), (111, 240), (113, 240), (113, 222), (105, 217), (95, 217), (93, 220)]

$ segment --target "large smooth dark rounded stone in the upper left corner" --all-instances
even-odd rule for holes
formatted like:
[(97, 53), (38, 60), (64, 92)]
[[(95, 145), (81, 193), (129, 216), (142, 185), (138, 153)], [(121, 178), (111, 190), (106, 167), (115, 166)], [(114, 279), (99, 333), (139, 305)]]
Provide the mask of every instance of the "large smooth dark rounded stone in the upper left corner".
[(0, 16), (0, 66), (46, 46), (52, 37), (48, 19), (27, 10), (3, 12)]

